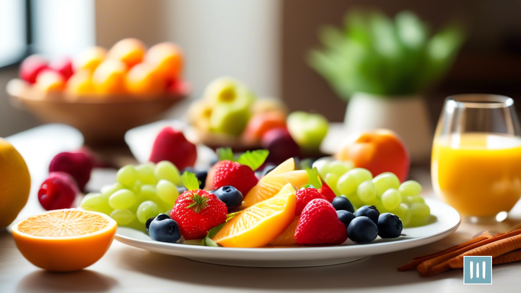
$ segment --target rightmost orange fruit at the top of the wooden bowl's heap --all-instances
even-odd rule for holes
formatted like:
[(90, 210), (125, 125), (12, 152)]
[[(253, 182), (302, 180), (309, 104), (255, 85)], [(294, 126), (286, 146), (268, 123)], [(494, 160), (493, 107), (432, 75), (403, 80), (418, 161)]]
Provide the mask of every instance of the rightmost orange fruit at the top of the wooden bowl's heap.
[(146, 52), (143, 61), (152, 64), (167, 80), (181, 77), (183, 53), (174, 43), (163, 42), (153, 45)]

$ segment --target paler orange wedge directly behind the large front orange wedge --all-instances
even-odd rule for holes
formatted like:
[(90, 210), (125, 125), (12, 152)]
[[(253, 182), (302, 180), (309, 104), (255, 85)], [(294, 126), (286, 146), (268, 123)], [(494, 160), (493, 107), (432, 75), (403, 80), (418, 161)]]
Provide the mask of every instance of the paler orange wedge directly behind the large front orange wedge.
[(295, 188), (301, 188), (308, 182), (305, 170), (295, 169), (295, 161), (289, 158), (264, 176), (244, 197), (244, 205), (252, 206), (272, 198), (280, 189), (290, 183)]

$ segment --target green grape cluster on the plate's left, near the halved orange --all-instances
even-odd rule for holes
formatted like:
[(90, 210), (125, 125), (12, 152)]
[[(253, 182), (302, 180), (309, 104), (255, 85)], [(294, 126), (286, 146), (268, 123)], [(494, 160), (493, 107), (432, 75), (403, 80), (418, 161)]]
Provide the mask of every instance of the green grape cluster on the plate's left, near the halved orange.
[(100, 193), (86, 194), (80, 206), (138, 230), (148, 218), (170, 210), (179, 196), (177, 186), (182, 186), (179, 170), (168, 161), (127, 165), (118, 170), (116, 180)]

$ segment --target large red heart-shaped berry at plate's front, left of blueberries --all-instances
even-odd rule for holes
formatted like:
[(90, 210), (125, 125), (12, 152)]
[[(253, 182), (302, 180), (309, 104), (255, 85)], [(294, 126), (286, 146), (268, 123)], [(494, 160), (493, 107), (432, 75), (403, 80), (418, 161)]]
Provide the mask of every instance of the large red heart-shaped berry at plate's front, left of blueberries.
[(295, 230), (295, 240), (301, 245), (338, 245), (348, 239), (347, 229), (340, 222), (337, 211), (325, 199), (306, 204)]

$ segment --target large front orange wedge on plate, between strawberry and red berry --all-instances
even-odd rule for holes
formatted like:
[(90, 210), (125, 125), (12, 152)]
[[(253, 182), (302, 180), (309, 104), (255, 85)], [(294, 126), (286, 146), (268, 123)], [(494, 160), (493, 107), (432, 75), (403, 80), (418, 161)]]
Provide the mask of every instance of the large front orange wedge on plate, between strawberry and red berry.
[(224, 247), (265, 246), (293, 221), (295, 206), (295, 189), (287, 184), (275, 197), (251, 206), (232, 218), (212, 240)]

